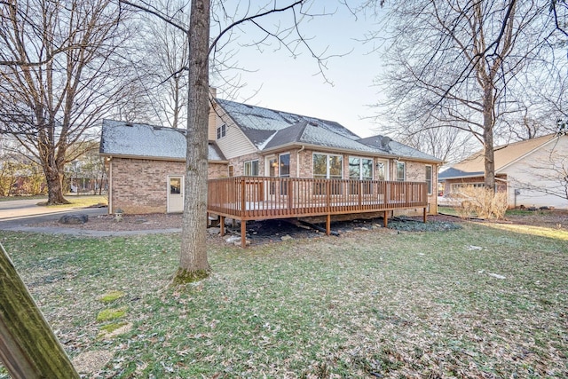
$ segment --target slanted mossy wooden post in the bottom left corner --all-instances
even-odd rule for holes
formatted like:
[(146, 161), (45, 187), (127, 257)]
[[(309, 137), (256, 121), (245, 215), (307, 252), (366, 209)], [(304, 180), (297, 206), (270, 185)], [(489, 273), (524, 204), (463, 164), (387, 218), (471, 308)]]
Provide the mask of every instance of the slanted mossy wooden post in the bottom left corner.
[(13, 379), (78, 379), (2, 244), (0, 250), (0, 360)]

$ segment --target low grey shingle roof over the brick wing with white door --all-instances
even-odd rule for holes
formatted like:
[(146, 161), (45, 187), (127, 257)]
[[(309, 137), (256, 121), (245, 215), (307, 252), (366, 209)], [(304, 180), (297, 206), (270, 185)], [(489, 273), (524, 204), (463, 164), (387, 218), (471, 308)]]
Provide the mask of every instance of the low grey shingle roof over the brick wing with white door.
[[(185, 160), (185, 130), (104, 120), (100, 154)], [(225, 161), (215, 143), (209, 142), (209, 161)]]

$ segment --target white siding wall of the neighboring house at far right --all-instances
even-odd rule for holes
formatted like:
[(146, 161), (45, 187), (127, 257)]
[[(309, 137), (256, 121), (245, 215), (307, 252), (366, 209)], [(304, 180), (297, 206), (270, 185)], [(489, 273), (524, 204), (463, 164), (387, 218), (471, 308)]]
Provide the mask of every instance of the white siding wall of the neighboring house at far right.
[(568, 168), (568, 136), (554, 139), (511, 164), (503, 170), (509, 180), (509, 205), (568, 209), (565, 195), (560, 196), (566, 184), (562, 167)]

